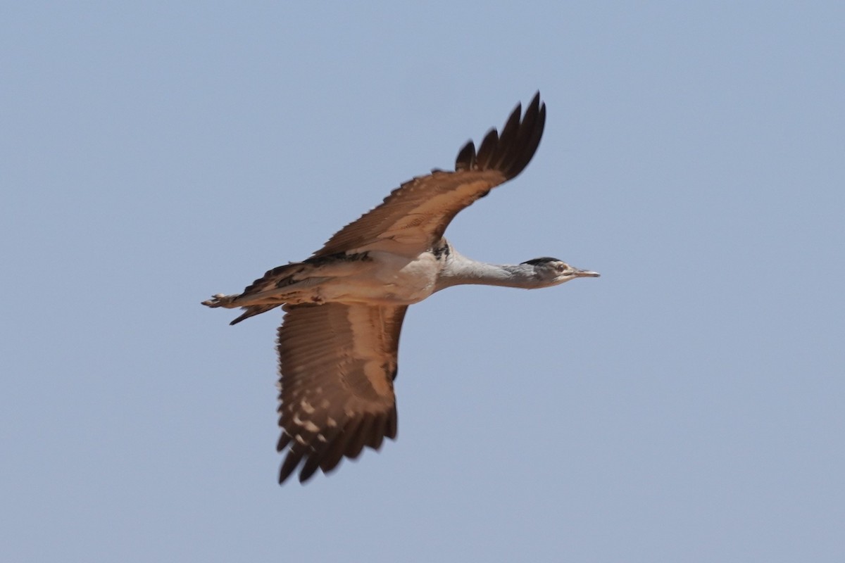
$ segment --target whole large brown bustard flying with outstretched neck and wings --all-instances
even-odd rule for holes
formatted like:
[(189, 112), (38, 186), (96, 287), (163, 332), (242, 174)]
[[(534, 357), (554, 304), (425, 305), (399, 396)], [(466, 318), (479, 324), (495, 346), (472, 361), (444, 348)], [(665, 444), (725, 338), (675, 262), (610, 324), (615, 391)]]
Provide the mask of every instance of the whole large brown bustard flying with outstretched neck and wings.
[(528, 290), (597, 278), (553, 257), (519, 264), (464, 257), (444, 238), (461, 209), (518, 176), (532, 160), (546, 122), (534, 95), (517, 104), (499, 133), (458, 152), (455, 171), (434, 169), (396, 188), (302, 262), (270, 269), (243, 293), (216, 294), (209, 307), (237, 308), (237, 324), (281, 306), (277, 332), (281, 436), (279, 483), (300, 468), (305, 483), (364, 447), (379, 450), (397, 430), (394, 380), (408, 306), (459, 284)]

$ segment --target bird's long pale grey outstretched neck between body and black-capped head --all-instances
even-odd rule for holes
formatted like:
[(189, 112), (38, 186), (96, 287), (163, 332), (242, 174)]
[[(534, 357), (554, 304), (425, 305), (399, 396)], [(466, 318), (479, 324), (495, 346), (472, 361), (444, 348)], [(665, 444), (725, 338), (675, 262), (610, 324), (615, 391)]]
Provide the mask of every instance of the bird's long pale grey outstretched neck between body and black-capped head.
[(532, 289), (539, 286), (531, 264), (490, 264), (462, 256), (454, 249), (444, 260), (436, 291), (452, 285), (499, 285)]

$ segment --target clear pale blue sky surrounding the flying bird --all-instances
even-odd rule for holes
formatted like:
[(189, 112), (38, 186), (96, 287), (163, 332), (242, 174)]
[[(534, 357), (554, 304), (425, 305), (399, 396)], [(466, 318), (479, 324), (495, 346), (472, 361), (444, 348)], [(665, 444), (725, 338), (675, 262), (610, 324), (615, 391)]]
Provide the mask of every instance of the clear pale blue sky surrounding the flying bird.
[[(0, 560), (845, 560), (842, 3), (6, 3)], [(539, 89), (399, 437), (280, 487), (276, 311), (200, 300)]]

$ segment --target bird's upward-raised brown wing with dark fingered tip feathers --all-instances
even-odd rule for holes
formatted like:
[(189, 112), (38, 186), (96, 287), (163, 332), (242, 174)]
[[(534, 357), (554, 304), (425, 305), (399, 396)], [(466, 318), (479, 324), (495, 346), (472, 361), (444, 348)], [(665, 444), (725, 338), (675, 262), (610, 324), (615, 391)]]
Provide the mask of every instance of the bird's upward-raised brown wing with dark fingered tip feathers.
[(493, 188), (517, 176), (537, 151), (546, 122), (540, 93), (521, 116), (517, 105), (502, 134), (491, 129), (476, 153), (466, 143), (455, 160), (455, 171), (433, 171), (398, 187), (379, 207), (335, 233), (314, 256), (337, 252), (384, 250), (417, 256), (443, 236), (461, 209)]

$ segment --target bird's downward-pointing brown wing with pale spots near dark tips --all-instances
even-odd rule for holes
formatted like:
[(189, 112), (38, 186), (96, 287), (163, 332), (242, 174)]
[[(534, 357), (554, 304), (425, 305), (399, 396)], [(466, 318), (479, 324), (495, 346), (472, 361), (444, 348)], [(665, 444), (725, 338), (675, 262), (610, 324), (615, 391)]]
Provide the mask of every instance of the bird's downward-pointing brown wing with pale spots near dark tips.
[(328, 472), (364, 446), (396, 436), (393, 379), (407, 306), (285, 306), (279, 328), (278, 450), (283, 482)]

